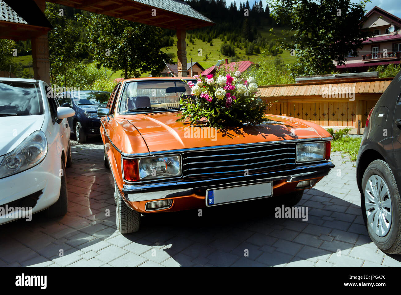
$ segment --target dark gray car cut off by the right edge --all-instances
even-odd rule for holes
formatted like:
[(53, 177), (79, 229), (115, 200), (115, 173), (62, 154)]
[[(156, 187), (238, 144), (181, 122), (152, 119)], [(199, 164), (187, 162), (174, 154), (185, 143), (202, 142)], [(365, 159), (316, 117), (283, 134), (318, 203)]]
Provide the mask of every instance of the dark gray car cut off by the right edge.
[(356, 180), (369, 236), (383, 252), (401, 253), (401, 71), (369, 113)]

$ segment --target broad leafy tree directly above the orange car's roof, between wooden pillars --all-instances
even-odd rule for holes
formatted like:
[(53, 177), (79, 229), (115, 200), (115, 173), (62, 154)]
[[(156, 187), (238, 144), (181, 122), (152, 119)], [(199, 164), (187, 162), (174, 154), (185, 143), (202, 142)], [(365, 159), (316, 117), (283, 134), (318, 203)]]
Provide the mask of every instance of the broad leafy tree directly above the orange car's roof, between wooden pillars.
[(82, 21), (94, 59), (103, 67), (123, 70), (125, 79), (141, 73), (157, 75), (164, 69), (168, 57), (160, 50), (162, 29), (101, 14)]

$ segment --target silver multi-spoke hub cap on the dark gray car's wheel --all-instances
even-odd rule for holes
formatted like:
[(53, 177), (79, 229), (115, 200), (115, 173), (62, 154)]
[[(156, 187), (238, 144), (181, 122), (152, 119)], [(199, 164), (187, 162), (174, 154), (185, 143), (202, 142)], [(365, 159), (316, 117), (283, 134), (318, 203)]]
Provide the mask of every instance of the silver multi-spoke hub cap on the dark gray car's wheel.
[(386, 182), (378, 175), (369, 177), (365, 186), (367, 225), (378, 236), (385, 236), (391, 227), (391, 198)]

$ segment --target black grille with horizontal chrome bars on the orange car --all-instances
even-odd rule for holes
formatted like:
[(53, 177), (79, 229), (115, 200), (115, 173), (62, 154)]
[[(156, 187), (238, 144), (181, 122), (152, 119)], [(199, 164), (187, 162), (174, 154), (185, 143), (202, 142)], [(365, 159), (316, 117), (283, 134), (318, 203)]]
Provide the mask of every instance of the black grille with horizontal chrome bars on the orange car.
[(185, 180), (249, 176), (295, 165), (296, 143), (241, 145), (238, 147), (196, 150), (182, 154)]

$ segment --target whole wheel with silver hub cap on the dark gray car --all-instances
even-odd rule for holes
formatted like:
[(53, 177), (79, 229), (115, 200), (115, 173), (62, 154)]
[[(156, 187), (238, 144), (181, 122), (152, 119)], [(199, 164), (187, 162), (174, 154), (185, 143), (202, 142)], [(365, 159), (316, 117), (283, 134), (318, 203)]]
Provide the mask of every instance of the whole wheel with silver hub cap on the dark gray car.
[(401, 253), (401, 199), (389, 164), (375, 160), (362, 179), (361, 208), (369, 236), (377, 248)]

